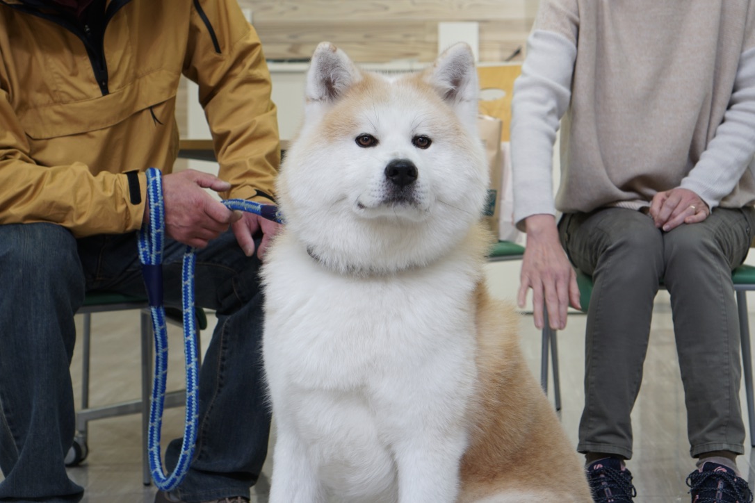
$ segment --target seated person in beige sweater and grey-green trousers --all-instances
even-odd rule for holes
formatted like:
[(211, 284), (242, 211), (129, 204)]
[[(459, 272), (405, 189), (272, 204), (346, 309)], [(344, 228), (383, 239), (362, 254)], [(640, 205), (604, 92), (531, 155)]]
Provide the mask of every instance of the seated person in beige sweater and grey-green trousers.
[(755, 235), (755, 0), (543, 0), (528, 46), (511, 130), (519, 303), (532, 289), (535, 325), (545, 305), (561, 329), (579, 306), (572, 266), (593, 277), (578, 450), (594, 499), (636, 493), (630, 412), (663, 281), (698, 459), (692, 501), (752, 501), (735, 465), (731, 271)]

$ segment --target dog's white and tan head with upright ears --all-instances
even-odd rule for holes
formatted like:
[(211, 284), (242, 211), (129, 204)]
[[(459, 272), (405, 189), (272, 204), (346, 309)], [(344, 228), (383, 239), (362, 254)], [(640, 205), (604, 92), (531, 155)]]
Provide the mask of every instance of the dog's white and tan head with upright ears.
[(466, 44), (392, 76), (319, 44), (278, 181), (287, 232), (343, 272), (386, 274), (448, 253), (479, 219), (488, 186), (476, 75)]

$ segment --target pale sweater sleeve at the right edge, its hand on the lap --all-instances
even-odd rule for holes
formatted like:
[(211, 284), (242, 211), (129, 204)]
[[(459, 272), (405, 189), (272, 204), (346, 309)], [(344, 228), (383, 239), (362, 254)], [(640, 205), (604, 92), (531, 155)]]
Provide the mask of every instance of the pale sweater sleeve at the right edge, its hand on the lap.
[(729, 195), (755, 154), (755, 48), (741, 55), (729, 108), (713, 140), (680, 186), (712, 209)]

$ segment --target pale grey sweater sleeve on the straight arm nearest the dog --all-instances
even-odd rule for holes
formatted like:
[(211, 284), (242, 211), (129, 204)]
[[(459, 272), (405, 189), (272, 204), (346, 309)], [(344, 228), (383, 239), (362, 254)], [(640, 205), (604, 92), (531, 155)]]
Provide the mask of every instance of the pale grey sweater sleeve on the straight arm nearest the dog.
[(511, 167), (514, 222), (555, 215), (553, 145), (559, 121), (569, 107), (577, 47), (561, 32), (535, 29), (527, 42), (522, 75), (511, 103)]

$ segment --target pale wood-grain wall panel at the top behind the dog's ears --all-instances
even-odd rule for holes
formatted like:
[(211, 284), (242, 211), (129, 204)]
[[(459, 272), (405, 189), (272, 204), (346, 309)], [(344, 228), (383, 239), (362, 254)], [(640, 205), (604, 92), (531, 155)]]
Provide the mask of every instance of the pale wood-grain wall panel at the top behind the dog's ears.
[[(538, 0), (239, 0), (251, 8), (265, 55), (273, 60), (308, 58), (331, 41), (358, 62), (432, 61), (438, 23), (479, 23), (479, 58), (506, 60), (523, 48)], [(521, 55), (515, 60), (521, 60)]]

